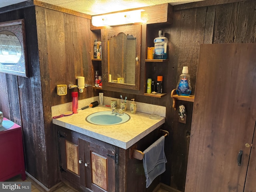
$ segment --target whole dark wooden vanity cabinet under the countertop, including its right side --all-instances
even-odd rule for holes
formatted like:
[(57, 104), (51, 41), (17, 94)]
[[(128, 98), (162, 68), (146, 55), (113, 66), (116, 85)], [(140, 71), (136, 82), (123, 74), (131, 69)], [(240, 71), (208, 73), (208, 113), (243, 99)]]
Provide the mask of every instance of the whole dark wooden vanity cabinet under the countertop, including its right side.
[(146, 188), (142, 160), (132, 158), (133, 149), (157, 139), (158, 129), (127, 150), (57, 125), (56, 132), (61, 179), (78, 191), (151, 192), (160, 182)]

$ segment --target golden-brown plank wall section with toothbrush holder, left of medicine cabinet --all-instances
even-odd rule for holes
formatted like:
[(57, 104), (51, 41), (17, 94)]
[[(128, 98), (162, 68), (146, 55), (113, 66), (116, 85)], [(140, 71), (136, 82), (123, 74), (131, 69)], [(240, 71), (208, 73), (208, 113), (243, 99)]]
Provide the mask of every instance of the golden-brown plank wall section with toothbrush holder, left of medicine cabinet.
[[(90, 33), (90, 20), (63, 12), (36, 6), (36, 24), (40, 73), (42, 82), (42, 98), (45, 121), (46, 149), (49, 174), (54, 176), (58, 170), (57, 159), (52, 159), (52, 146), (56, 146), (55, 131), (52, 126), (51, 107), (71, 102), (71, 92), (58, 96), (57, 84), (77, 84), (76, 76), (84, 76), (85, 83), (94, 79), (91, 54), (95, 38)], [(92, 87), (78, 94), (78, 99), (94, 96)], [(56, 182), (49, 181), (50, 186)]]

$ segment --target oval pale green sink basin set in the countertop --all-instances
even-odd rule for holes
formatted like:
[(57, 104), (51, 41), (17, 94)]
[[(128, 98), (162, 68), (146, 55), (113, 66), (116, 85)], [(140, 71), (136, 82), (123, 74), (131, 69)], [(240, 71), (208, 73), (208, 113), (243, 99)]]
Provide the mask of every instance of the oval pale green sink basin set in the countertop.
[(114, 114), (112, 111), (101, 111), (88, 115), (85, 120), (96, 125), (117, 125), (130, 120), (130, 115)]

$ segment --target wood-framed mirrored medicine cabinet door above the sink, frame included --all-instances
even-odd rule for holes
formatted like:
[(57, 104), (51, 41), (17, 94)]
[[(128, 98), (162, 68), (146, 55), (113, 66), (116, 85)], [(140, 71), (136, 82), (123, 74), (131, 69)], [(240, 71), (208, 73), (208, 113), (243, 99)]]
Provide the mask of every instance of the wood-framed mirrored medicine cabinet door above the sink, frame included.
[(140, 25), (108, 29), (107, 86), (140, 89)]

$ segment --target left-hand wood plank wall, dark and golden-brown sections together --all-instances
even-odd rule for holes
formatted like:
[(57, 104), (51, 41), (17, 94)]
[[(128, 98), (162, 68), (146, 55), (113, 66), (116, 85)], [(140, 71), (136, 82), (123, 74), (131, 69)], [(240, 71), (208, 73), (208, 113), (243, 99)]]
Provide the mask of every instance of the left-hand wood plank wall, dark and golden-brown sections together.
[[(0, 110), (4, 117), (22, 125), (26, 171), (51, 188), (58, 177), (55, 132), (51, 106), (71, 102), (56, 94), (57, 84), (77, 84), (94, 80), (91, 63), (90, 20), (62, 12), (31, 6), (0, 14), (0, 22), (24, 18), (29, 77), (0, 73)], [(95, 94), (85, 88), (79, 99)]]

